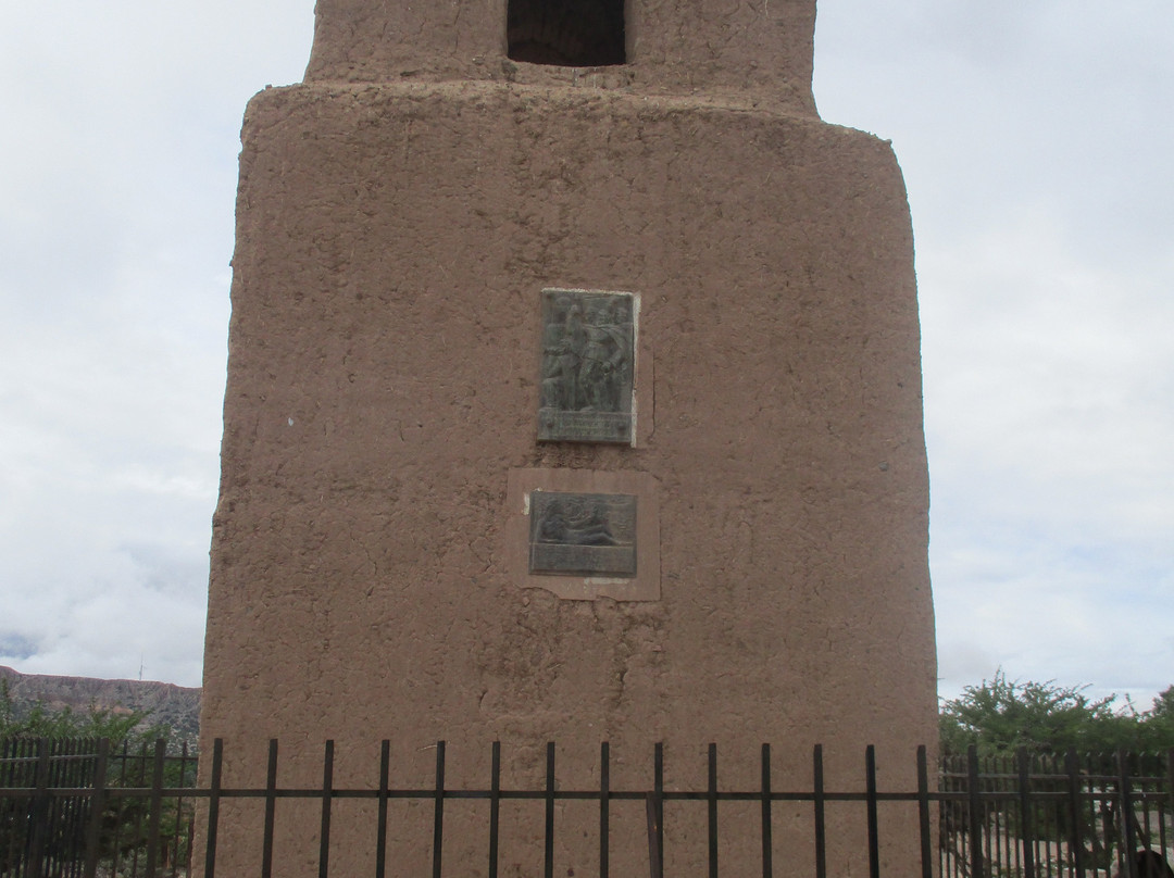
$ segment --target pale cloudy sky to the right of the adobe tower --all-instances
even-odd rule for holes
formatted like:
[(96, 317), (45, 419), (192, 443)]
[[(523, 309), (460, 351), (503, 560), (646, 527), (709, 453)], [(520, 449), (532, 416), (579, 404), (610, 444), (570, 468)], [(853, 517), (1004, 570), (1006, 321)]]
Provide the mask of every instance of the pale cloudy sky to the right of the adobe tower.
[(1174, 8), (824, 0), (917, 232), (942, 693), (1174, 668)]

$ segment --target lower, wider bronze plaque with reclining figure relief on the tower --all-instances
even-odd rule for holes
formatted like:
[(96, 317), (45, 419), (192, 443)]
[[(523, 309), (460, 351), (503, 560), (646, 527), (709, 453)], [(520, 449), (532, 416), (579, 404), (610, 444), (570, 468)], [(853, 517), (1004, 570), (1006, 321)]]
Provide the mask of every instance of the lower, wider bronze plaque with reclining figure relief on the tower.
[(635, 495), (531, 493), (529, 572), (635, 576)]

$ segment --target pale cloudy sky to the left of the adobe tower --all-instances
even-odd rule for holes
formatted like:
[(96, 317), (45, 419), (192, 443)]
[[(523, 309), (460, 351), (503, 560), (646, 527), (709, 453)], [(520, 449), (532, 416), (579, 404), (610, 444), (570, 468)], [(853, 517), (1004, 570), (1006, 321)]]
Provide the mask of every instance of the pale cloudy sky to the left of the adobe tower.
[(200, 683), (237, 133), (312, 4), (79, 0), (0, 31), (0, 663)]

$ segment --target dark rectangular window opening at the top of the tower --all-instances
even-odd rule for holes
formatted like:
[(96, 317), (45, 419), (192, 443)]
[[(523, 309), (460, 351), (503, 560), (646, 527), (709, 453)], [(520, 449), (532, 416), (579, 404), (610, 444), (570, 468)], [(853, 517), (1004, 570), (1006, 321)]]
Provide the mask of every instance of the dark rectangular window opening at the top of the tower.
[(534, 65), (622, 65), (623, 0), (510, 0), (510, 58)]

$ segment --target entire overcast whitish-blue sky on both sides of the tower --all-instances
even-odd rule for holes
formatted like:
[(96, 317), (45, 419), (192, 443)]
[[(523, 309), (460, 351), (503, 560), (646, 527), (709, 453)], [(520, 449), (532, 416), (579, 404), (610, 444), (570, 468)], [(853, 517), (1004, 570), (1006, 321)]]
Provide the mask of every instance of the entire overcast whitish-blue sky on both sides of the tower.
[[(312, 0), (0, 28), (0, 664), (198, 685), (238, 131)], [(823, 0), (917, 238), (940, 693), (1174, 683), (1174, 4)]]

